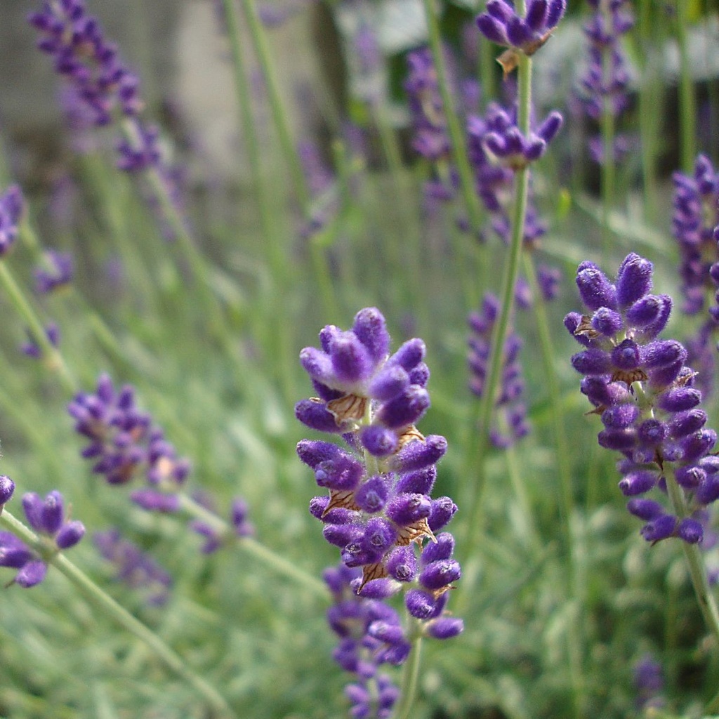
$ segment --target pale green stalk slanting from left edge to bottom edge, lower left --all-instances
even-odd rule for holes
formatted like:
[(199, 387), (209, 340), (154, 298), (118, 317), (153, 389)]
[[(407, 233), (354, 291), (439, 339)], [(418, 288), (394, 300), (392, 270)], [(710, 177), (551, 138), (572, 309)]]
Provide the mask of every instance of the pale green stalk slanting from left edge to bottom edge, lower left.
[(145, 642), (145, 644), (165, 662), (169, 669), (175, 672), (178, 677), (188, 682), (188, 684), (191, 684), (198, 694), (209, 702), (209, 705), (214, 711), (223, 717), (238, 719), (232, 707), (229, 706), (224, 697), (222, 697), (206, 679), (203, 679), (203, 677), (200, 677), (193, 669), (188, 667), (186, 661), (173, 649), (170, 649), (155, 632), (134, 618), (124, 607), (104, 592), (101, 587), (96, 585), (85, 572), (73, 564), (73, 562), (70, 562), (64, 554), (55, 553), (48, 556), (45, 543), (22, 522), (14, 518), (6, 509), (0, 514), (0, 523), (9, 528), (19, 539), (22, 539), (22, 541), (38, 551), (48, 564), (52, 564), (53, 567), (64, 574), (75, 587), (78, 587), (78, 589), (96, 606), (103, 610), (109, 618)]

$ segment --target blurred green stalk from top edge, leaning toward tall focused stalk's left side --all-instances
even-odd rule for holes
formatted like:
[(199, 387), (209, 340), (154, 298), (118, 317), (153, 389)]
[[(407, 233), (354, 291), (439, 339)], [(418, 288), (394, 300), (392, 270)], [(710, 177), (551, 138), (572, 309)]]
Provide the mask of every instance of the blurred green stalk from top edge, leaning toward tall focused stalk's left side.
[(467, 209), (467, 215), (470, 219), (470, 227), (473, 232), (480, 232), (482, 222), (482, 211), (480, 210), (480, 202), (475, 192), (475, 179), (470, 168), (470, 160), (467, 156), (467, 145), (464, 142), (464, 132), (459, 124), (459, 117), (454, 110), (454, 99), (449, 89), (448, 78), (446, 73), (446, 65), (444, 63), (444, 53), (442, 52), (442, 40), (439, 32), (439, 22), (437, 22), (434, 12), (434, 0), (423, 0), (424, 16), (427, 21), (427, 29), (429, 30), (429, 47), (432, 51), (432, 59), (434, 60), (434, 69), (437, 73), (437, 82), (439, 84), (439, 92), (444, 106), (444, 117), (446, 119), (449, 138), (452, 141), (452, 159), (457, 166), (459, 174), (459, 191), (464, 199), (464, 206)]

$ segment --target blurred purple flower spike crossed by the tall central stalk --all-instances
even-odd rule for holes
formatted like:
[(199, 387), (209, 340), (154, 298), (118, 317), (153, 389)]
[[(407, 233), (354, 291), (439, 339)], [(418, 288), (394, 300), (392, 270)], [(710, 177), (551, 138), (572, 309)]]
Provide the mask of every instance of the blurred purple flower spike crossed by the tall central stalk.
[[(491, 351), (492, 329), (499, 310), (499, 299), (492, 293), (487, 293), (482, 303), (482, 312), (472, 312), (469, 316), (469, 325), (472, 330), (469, 340), (469, 364), (472, 372), (470, 390), (477, 397), (481, 397), (484, 392), (487, 360)], [(498, 408), (495, 421), (498, 426), (490, 431), (492, 442), (498, 447), (508, 447), (529, 434), (527, 410), (522, 401), (524, 379), (519, 362), (521, 347), (520, 336), (510, 331), (505, 339), (502, 381), (498, 398), (495, 401), (495, 406)]]

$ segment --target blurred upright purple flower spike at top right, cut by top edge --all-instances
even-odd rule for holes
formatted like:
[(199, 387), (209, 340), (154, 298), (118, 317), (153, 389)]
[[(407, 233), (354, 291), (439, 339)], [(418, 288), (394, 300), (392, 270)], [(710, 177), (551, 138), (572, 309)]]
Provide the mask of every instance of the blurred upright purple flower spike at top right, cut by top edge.
[[(634, 21), (626, 7), (626, 0), (589, 0), (595, 13), (584, 32), (589, 40), (589, 63), (580, 79), (580, 101), (592, 119), (600, 119), (605, 112), (617, 117), (629, 104), (627, 88), (629, 71), (621, 38)], [(629, 149), (623, 135), (614, 138), (614, 154), (620, 157)], [(595, 162), (603, 162), (601, 137), (590, 139), (590, 155)]]

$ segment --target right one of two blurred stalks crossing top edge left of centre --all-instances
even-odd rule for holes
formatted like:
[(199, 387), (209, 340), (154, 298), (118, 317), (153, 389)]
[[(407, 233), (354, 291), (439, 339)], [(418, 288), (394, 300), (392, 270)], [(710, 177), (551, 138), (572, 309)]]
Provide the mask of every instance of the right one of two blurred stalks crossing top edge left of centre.
[(242, 9), (247, 19), (247, 27), (249, 29), (249, 35), (252, 37), (252, 45), (255, 47), (255, 54), (260, 63), (262, 78), (265, 80), (267, 98), (270, 101), (270, 110), (272, 111), (280, 145), (285, 155), (285, 162), (290, 170), (293, 191), (296, 193), (303, 210), (306, 210), (311, 199), (310, 192), (307, 186), (307, 180), (302, 171), (302, 163), (300, 162), (297, 147), (293, 141), (292, 132), (290, 132), (288, 122), (290, 114), (285, 108), (283, 96), (282, 93), (280, 93), (280, 87), (275, 73), (275, 65), (273, 64), (270, 47), (267, 44), (265, 28), (262, 27), (255, 0), (242, 0)]

